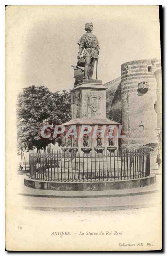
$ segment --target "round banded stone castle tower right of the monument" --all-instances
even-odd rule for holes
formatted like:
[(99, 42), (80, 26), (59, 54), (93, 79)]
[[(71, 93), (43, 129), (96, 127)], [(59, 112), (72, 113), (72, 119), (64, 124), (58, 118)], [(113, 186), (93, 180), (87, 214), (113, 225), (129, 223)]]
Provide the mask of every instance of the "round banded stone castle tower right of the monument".
[(157, 70), (161, 70), (161, 62), (156, 59), (121, 65), (123, 144), (157, 143)]

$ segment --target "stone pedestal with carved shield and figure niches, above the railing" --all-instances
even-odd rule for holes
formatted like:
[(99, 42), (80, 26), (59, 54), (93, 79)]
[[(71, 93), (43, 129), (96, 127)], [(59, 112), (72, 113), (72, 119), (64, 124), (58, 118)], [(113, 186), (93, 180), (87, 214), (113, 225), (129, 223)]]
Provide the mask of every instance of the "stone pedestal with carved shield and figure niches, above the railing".
[[(110, 125), (118, 126), (117, 122), (106, 118), (106, 90), (101, 80), (82, 80), (77, 81), (71, 90), (72, 101), (72, 119), (62, 124), (65, 126), (64, 141), (66, 147), (78, 147), (80, 155), (83, 154), (83, 148), (91, 148), (92, 153), (95, 153), (101, 148), (99, 153), (104, 148), (109, 147), (110, 143), (107, 135), (110, 132)], [(68, 130), (72, 125), (76, 125), (77, 138), (73, 135), (68, 136)], [(80, 136), (82, 125), (91, 126), (89, 134)], [(102, 130), (105, 128), (104, 137), (101, 135), (93, 136), (95, 128)], [(99, 134), (101, 134), (99, 132)], [(113, 134), (113, 146), (118, 149), (117, 134)], [(68, 138), (67, 138), (68, 137)], [(100, 138), (99, 138), (100, 137)], [(98, 152), (97, 152), (98, 153)], [(86, 157), (86, 156), (85, 156)]]

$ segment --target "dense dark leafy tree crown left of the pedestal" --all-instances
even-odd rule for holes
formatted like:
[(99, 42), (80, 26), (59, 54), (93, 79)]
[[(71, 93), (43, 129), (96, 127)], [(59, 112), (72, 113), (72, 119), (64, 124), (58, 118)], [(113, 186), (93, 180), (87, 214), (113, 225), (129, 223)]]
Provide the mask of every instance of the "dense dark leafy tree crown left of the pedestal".
[[(49, 143), (61, 144), (60, 138), (44, 139), (44, 124), (63, 124), (71, 119), (71, 97), (67, 91), (50, 92), (44, 86), (31, 85), (18, 95), (18, 149), (45, 149)], [(49, 129), (46, 133), (49, 132)]]

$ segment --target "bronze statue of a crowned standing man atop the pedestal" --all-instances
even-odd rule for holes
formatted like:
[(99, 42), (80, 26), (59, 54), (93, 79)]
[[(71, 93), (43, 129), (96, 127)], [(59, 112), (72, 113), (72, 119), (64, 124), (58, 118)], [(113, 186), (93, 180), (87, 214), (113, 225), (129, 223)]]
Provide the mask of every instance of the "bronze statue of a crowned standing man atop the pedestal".
[(92, 79), (95, 60), (99, 59), (100, 48), (97, 37), (92, 34), (93, 23), (86, 23), (85, 30), (87, 33), (81, 36), (78, 41), (79, 52), (77, 58), (78, 60), (81, 58), (81, 53), (85, 49), (83, 53), (85, 59), (84, 79)]

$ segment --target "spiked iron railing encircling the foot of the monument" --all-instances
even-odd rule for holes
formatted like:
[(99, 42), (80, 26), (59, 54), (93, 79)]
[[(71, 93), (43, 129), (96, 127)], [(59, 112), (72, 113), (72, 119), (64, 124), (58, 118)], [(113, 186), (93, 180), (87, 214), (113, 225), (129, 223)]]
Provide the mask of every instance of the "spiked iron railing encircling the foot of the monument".
[[(89, 152), (89, 153), (88, 153)], [(107, 181), (137, 179), (150, 175), (149, 148), (120, 148), (116, 152), (78, 148), (31, 152), (30, 178), (57, 182)]]

